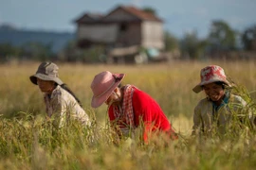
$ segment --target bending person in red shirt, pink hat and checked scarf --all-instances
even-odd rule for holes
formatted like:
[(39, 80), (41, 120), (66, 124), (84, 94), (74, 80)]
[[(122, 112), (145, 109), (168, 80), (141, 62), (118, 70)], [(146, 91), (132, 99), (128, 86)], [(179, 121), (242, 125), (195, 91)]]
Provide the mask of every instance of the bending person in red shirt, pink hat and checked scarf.
[(120, 137), (129, 136), (136, 127), (142, 126), (145, 143), (148, 143), (152, 132), (162, 131), (171, 139), (177, 139), (163, 110), (149, 94), (130, 84), (119, 87), (124, 76), (108, 71), (95, 76), (91, 83), (94, 94), (91, 106), (98, 108), (102, 103), (108, 105), (111, 126), (116, 129)]

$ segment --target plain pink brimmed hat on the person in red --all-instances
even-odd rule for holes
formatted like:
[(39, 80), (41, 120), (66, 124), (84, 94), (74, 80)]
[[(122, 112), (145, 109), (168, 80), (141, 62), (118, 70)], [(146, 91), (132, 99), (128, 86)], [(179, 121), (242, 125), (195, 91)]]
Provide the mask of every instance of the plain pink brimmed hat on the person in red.
[(96, 75), (91, 83), (91, 90), (93, 92), (91, 106), (93, 108), (100, 107), (119, 86), (124, 76), (124, 74), (112, 74), (109, 71)]

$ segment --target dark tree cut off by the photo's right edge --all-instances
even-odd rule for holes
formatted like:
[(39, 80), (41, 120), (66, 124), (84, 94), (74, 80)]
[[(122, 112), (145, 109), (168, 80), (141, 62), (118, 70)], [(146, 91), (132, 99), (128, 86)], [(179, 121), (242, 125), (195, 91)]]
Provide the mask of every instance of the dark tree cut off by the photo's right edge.
[(241, 39), (246, 50), (256, 50), (256, 25), (248, 27)]

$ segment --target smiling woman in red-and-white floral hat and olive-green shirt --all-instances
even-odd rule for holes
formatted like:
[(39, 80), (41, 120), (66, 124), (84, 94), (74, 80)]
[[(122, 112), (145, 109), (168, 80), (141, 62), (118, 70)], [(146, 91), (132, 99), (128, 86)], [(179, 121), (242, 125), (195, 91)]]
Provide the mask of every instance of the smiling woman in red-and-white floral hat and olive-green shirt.
[(210, 135), (213, 131), (226, 134), (236, 118), (242, 122), (246, 119), (252, 121), (251, 113), (244, 110), (247, 102), (241, 96), (230, 93), (231, 85), (223, 68), (209, 65), (201, 70), (200, 76), (201, 82), (192, 91), (204, 91), (206, 98), (200, 100), (194, 108), (192, 135), (202, 132)]

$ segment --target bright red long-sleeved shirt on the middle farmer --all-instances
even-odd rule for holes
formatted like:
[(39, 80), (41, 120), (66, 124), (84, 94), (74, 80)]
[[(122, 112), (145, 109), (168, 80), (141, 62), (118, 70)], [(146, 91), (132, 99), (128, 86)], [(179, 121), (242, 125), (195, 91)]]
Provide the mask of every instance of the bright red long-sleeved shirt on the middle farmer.
[[(139, 126), (140, 120), (144, 123), (144, 142), (148, 141), (148, 135), (151, 131), (166, 131), (170, 135), (174, 133), (174, 130), (163, 110), (161, 110), (160, 106), (149, 94), (135, 89), (132, 102), (135, 115), (135, 127)], [(109, 107), (108, 115), (110, 121), (116, 120), (113, 106)]]

